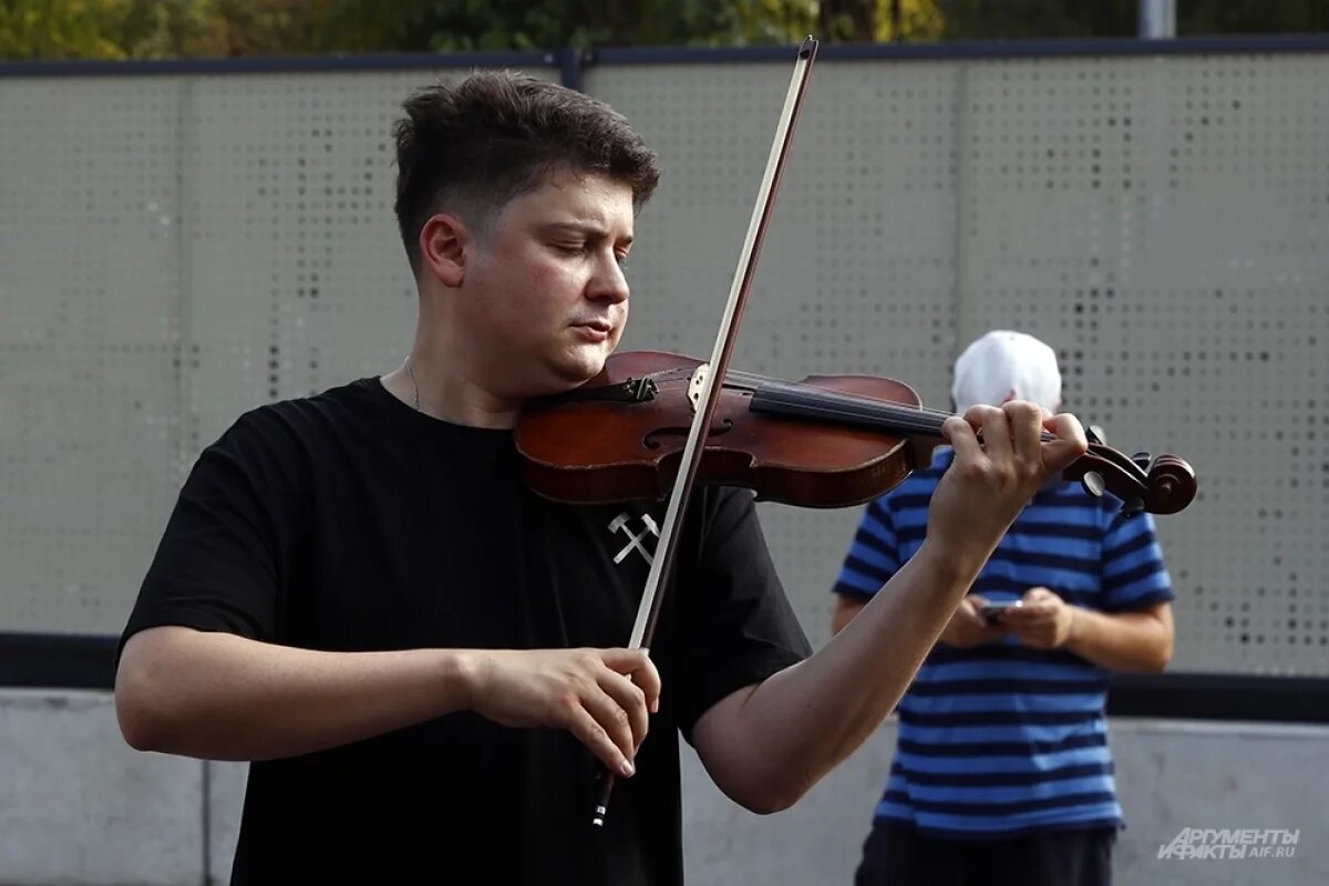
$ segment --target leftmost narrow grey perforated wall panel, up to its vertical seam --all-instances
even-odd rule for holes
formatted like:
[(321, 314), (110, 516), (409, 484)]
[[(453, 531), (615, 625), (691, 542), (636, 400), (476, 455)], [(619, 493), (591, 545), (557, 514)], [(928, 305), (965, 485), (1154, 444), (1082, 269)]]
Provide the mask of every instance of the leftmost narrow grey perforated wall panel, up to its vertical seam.
[(0, 626), (104, 631), (179, 417), (174, 78), (0, 81)]

